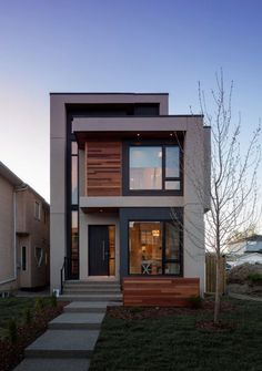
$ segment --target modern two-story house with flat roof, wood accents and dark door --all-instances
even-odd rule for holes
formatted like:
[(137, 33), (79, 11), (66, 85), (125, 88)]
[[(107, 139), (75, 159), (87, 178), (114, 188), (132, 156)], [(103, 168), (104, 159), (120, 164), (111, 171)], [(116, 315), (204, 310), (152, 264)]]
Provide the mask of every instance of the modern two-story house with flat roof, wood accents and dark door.
[(210, 128), (168, 94), (51, 93), (51, 287), (95, 277), (199, 278)]

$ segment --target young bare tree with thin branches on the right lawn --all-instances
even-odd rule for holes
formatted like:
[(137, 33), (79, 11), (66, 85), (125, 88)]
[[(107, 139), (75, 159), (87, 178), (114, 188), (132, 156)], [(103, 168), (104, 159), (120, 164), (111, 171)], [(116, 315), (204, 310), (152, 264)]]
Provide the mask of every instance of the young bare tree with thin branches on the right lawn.
[[(204, 205), (206, 197), (211, 200), (210, 210), (205, 214), (205, 249), (215, 255), (214, 322), (218, 321), (220, 311), (220, 262), (229, 238), (234, 230), (246, 230), (254, 226), (258, 217), (256, 171), (261, 158), (259, 143), (261, 126), (251, 133), (249, 141), (240, 143), (241, 118), (239, 116), (236, 123), (232, 118), (232, 90), (233, 83), (226, 93), (221, 71), (216, 75), (216, 87), (211, 91), (213, 107), (211, 114), (205, 95), (199, 85), (201, 113), (204, 115), (204, 124), (211, 127), (210, 188), (204, 189), (202, 179), (194, 174), (194, 164), (191, 164), (191, 175), (185, 174), (191, 177), (200, 204)], [(191, 223), (190, 216), (187, 218), (187, 225), (190, 227), (184, 233), (203, 250), (203, 246), (198, 246), (198, 227)]]

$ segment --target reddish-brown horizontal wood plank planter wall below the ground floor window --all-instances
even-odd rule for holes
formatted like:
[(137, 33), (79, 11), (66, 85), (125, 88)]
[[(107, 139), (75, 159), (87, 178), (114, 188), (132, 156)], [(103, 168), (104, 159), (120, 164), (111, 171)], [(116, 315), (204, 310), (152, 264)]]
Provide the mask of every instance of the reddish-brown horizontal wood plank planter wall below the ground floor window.
[(127, 307), (187, 307), (189, 298), (199, 295), (199, 278), (123, 278), (123, 302)]

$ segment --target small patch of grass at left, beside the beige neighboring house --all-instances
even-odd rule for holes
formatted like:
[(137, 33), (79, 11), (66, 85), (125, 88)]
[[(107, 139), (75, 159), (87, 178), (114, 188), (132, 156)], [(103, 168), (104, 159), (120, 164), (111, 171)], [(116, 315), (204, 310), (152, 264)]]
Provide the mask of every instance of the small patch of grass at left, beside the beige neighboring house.
[[(47, 302), (49, 299), (44, 298)], [(0, 338), (4, 336), (4, 328), (10, 318), (14, 318), (18, 323), (23, 322), (23, 313), (27, 308), (33, 309), (34, 298), (6, 298), (0, 299)]]

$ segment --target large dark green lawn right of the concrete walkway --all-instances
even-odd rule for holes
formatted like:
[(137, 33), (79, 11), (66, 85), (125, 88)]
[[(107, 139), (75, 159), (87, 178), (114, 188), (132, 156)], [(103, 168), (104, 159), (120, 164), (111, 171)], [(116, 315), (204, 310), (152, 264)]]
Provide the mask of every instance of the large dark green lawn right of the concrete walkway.
[(206, 311), (132, 320), (107, 315), (90, 371), (260, 371), (262, 303), (230, 302), (233, 310), (221, 319), (235, 323), (233, 330), (196, 328), (196, 321), (212, 318)]

